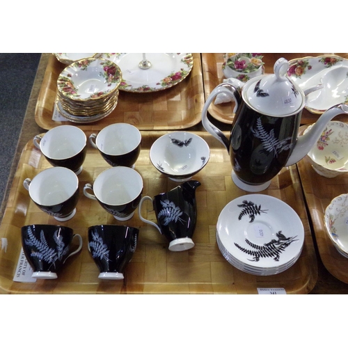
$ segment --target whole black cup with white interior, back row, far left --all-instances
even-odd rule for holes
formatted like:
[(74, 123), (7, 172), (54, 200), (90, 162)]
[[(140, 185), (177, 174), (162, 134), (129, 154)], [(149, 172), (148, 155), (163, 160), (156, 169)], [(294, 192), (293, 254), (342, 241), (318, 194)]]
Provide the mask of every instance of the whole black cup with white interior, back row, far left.
[(52, 166), (69, 168), (79, 175), (86, 158), (86, 134), (78, 127), (62, 125), (45, 135), (36, 135), (33, 144)]

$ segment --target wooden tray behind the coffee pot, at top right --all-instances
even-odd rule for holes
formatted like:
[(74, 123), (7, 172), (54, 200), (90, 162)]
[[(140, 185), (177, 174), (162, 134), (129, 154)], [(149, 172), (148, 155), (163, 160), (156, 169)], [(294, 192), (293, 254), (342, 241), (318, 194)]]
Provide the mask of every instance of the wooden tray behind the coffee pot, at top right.
[[(319, 56), (324, 53), (267, 53), (263, 54), (264, 58), (264, 68), (266, 74), (273, 74), (274, 63), (278, 58), (284, 57), (288, 61), (295, 58), (301, 58), (306, 56)], [(347, 58), (347, 54), (337, 54)], [(204, 83), (204, 93), (205, 100), (209, 97), (212, 90), (223, 82), (223, 79), (226, 77), (223, 75), (222, 65), (224, 61), (224, 53), (203, 53), (202, 54), (202, 67), (203, 67), (203, 83)], [(223, 103), (214, 105), (214, 102), (210, 104), (208, 112), (210, 116), (214, 119), (223, 122), (223, 123), (232, 123), (233, 120), (233, 108), (235, 106), (234, 102)], [(318, 116), (310, 113), (308, 110), (303, 109), (301, 124), (307, 125), (308, 123), (313, 123), (317, 120)]]

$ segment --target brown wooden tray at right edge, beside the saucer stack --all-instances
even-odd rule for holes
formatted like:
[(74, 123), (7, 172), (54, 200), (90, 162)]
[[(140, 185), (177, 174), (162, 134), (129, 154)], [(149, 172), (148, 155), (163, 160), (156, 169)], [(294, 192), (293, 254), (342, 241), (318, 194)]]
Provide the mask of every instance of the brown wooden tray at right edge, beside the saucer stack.
[[(304, 129), (306, 129), (306, 126), (301, 127), (300, 132), (303, 132)], [(335, 278), (348, 283), (348, 259), (340, 255), (333, 246), (324, 225), (325, 209), (331, 200), (342, 193), (348, 192), (348, 175), (342, 174), (333, 178), (322, 177), (314, 171), (308, 157), (301, 159), (297, 166), (310, 218), (313, 221), (313, 230), (320, 258), (326, 269)]]

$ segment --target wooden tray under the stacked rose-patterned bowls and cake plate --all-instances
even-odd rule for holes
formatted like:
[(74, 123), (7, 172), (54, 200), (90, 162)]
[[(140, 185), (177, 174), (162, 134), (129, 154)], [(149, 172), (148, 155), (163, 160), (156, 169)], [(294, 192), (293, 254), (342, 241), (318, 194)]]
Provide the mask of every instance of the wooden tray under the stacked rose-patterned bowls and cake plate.
[(200, 54), (193, 54), (189, 76), (172, 88), (155, 93), (128, 93), (120, 90), (116, 109), (106, 118), (91, 123), (52, 120), (56, 102), (57, 79), (66, 67), (52, 54), (35, 108), (35, 122), (43, 129), (57, 125), (78, 125), (81, 129), (100, 130), (116, 122), (127, 122), (141, 130), (184, 129), (200, 122), (203, 109), (203, 74)]

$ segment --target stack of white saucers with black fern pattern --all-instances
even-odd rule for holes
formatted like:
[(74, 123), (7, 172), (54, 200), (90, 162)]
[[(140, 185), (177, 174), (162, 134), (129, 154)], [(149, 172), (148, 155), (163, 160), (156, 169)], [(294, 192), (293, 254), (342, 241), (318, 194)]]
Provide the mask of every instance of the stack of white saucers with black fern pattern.
[(232, 266), (255, 276), (271, 276), (299, 259), (304, 228), (294, 209), (282, 200), (249, 194), (223, 208), (216, 241)]

